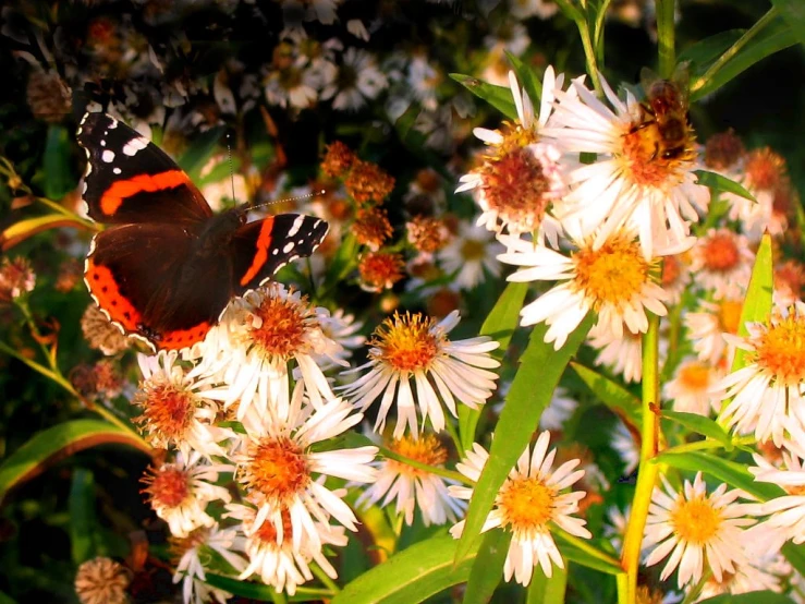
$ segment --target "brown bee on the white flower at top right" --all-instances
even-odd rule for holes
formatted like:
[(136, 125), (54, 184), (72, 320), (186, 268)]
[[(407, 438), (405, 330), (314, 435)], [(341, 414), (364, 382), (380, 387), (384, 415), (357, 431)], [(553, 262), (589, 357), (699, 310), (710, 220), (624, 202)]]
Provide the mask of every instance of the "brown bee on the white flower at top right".
[(692, 152), (687, 68), (688, 63), (680, 63), (671, 80), (662, 80), (647, 68), (641, 72), (646, 98), (641, 104), (641, 121), (632, 131), (646, 129), (644, 134), (654, 137), (651, 159), (681, 159)]

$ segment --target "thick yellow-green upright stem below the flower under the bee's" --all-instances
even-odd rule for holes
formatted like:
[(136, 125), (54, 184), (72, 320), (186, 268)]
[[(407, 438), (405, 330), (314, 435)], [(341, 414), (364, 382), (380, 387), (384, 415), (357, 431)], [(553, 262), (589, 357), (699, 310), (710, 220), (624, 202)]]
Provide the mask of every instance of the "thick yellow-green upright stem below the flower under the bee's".
[(659, 326), (660, 318), (649, 315), (648, 333), (643, 338), (643, 425), (641, 427), (641, 464), (637, 474), (632, 512), (623, 539), (621, 565), (626, 571), (626, 602), (633, 604), (637, 593), (637, 570), (641, 564), (641, 544), (646, 528), (651, 493), (660, 471), (659, 463), (649, 463), (657, 455), (659, 415)]

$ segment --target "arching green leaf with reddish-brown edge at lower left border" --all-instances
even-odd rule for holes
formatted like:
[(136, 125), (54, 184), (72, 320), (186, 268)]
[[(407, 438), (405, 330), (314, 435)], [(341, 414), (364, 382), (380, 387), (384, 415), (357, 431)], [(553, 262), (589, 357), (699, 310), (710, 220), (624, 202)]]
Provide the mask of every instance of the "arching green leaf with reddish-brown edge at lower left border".
[(80, 450), (118, 443), (150, 455), (151, 449), (133, 432), (98, 420), (73, 420), (35, 434), (0, 466), (0, 494)]

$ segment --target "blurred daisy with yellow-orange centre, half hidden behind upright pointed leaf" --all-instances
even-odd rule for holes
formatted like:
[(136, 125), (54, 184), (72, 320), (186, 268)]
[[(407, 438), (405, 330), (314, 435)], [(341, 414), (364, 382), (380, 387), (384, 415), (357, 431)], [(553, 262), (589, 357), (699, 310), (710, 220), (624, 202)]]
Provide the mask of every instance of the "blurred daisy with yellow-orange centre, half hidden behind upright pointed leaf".
[(743, 297), (718, 302), (699, 300), (697, 312), (684, 315), (682, 321), (687, 338), (693, 342), (699, 361), (710, 366), (732, 363), (733, 347), (729, 346), (724, 335), (737, 334), (743, 305)]

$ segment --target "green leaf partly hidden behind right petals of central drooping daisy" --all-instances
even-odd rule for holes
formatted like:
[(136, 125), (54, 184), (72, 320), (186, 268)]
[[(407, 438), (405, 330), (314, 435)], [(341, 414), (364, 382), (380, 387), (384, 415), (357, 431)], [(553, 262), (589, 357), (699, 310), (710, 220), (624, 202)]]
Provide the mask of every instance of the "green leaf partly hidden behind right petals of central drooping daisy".
[[(498, 361), (503, 360), (503, 355), (509, 349), (509, 342), (517, 327), (520, 309), (523, 307), (527, 291), (527, 283), (509, 283), (480, 327), (479, 335), (489, 336), (500, 343), (498, 349), (491, 352), (491, 355)], [(478, 418), (480, 418), (480, 409), (471, 409), (466, 404), (459, 406), (459, 433), (464, 450), (469, 450), (473, 447)]]

